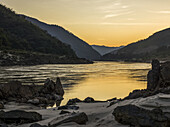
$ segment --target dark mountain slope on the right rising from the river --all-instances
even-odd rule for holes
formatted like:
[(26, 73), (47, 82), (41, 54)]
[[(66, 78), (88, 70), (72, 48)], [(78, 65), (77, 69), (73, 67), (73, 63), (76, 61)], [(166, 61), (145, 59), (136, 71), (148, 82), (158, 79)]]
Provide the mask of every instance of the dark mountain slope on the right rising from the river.
[(154, 33), (144, 40), (131, 43), (124, 48), (108, 53), (103, 60), (136, 60), (170, 59), (170, 28)]

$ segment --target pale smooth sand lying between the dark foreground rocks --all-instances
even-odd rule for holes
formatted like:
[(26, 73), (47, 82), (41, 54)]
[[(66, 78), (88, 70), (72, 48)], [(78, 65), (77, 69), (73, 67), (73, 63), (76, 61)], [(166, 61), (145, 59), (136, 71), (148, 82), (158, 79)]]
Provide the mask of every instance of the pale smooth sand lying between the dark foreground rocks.
[[(163, 112), (166, 112), (166, 115), (169, 116), (170, 113), (170, 95), (168, 94), (157, 94), (154, 96), (150, 96), (147, 98), (138, 98), (138, 99), (130, 99), (130, 100), (124, 100), (120, 101), (118, 103), (115, 103), (114, 105), (109, 106), (110, 102), (102, 102), (102, 103), (77, 103), (76, 106), (79, 107), (78, 110), (72, 110), (68, 109), (65, 111), (68, 111), (70, 113), (62, 114), (61, 110), (58, 110), (58, 108), (49, 108), (49, 109), (40, 109), (37, 107), (34, 107), (32, 105), (25, 105), (25, 104), (17, 104), (17, 103), (9, 103), (5, 105), (6, 109), (5, 111), (10, 110), (25, 110), (25, 111), (34, 111), (38, 112), (42, 115), (42, 120), (37, 122), (40, 125), (46, 125), (54, 120), (54, 119), (65, 119), (68, 116), (72, 116), (72, 113), (86, 113), (88, 117), (88, 121), (84, 125), (79, 125), (75, 122), (68, 122), (63, 123), (61, 125), (58, 125), (58, 127), (129, 127), (129, 125), (123, 125), (118, 123), (115, 120), (114, 115), (112, 114), (114, 112), (114, 109), (118, 106), (125, 106), (125, 105), (136, 105), (140, 108), (144, 108), (146, 110), (152, 110), (155, 108), (160, 108), (163, 110)], [(56, 120), (57, 122), (57, 120)], [(33, 123), (29, 124), (22, 124), (18, 125), (18, 127), (30, 127)], [(154, 126), (154, 125), (153, 125)], [(13, 127), (15, 125), (13, 124)], [(166, 126), (165, 126), (166, 127)], [(167, 126), (168, 127), (168, 126)]]

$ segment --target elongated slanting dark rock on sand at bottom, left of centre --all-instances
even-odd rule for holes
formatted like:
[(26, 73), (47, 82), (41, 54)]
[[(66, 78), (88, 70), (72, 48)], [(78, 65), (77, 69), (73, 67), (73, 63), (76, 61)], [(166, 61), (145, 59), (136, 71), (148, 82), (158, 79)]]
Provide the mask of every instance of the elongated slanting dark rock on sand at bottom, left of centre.
[(82, 112), (82, 113), (75, 113), (72, 114), (71, 116), (68, 116), (62, 120), (60, 119), (54, 119), (49, 123), (49, 127), (56, 127), (58, 125), (61, 125), (63, 123), (69, 123), (69, 122), (75, 122), (77, 124), (83, 125), (86, 124), (86, 122), (88, 121), (88, 117), (87, 115)]

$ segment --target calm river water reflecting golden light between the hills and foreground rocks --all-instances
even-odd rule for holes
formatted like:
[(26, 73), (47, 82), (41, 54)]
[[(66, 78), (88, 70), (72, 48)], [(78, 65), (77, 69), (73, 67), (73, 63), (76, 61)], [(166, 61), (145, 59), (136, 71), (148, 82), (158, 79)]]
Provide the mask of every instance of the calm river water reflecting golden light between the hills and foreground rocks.
[(63, 104), (70, 98), (97, 100), (122, 98), (134, 89), (146, 88), (147, 63), (95, 62), (81, 65), (37, 65), (0, 67), (0, 82), (19, 80), (42, 85), (46, 78), (60, 77), (64, 85)]

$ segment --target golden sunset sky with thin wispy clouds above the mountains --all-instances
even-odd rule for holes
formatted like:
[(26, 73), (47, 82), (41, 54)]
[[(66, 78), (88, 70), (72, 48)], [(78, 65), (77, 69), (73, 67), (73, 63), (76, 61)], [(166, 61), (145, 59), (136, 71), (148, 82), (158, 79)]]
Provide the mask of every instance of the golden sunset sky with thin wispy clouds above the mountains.
[(170, 0), (0, 0), (89, 44), (121, 46), (170, 26)]

